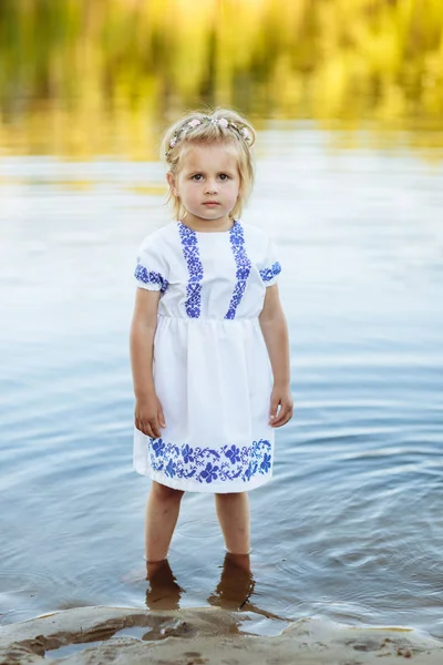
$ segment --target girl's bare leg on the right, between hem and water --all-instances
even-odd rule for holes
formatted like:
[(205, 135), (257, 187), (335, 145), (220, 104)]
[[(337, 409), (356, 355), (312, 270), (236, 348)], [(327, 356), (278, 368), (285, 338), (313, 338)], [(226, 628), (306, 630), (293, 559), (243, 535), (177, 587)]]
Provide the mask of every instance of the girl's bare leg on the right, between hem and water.
[(248, 494), (246, 492), (216, 494), (215, 505), (227, 551), (233, 554), (248, 554), (250, 550)]

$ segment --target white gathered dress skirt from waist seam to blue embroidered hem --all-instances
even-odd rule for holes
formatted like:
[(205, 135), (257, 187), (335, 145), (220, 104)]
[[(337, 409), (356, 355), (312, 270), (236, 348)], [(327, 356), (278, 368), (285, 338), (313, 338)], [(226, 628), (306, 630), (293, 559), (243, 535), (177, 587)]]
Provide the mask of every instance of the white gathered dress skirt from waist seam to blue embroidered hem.
[(171, 488), (243, 492), (272, 474), (271, 372), (257, 318), (158, 316), (154, 382), (166, 428), (135, 429), (134, 467)]

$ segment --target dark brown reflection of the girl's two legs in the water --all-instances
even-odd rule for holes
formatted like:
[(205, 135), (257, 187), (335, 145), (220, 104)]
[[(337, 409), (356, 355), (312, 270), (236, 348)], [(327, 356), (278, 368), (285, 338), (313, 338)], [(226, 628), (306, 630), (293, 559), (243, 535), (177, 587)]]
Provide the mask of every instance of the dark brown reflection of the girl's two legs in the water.
[[(184, 589), (177, 583), (167, 559), (146, 563), (146, 605), (150, 610), (178, 610)], [(223, 564), (220, 581), (208, 597), (209, 605), (225, 610), (253, 608), (249, 598), (254, 593), (255, 581), (250, 572), (248, 554), (227, 553)]]

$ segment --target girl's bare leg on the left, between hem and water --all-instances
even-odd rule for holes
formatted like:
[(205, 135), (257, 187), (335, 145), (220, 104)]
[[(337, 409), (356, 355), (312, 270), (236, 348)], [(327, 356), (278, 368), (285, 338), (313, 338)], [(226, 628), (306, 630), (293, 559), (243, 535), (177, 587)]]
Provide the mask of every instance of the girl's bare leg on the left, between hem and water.
[(145, 556), (148, 565), (167, 556), (183, 494), (182, 490), (155, 481), (152, 483), (145, 521)]

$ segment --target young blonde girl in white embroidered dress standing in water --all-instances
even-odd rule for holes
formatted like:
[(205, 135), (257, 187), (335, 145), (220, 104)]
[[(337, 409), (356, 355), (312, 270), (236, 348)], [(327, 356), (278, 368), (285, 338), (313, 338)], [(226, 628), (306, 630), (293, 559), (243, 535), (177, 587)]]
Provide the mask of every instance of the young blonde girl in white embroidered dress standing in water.
[(135, 470), (148, 475), (145, 559), (166, 559), (185, 491), (212, 492), (228, 552), (250, 550), (247, 491), (271, 478), (292, 416), (274, 243), (238, 217), (249, 123), (190, 113), (163, 141), (174, 222), (142, 243), (131, 329)]

